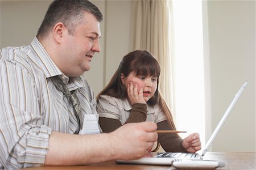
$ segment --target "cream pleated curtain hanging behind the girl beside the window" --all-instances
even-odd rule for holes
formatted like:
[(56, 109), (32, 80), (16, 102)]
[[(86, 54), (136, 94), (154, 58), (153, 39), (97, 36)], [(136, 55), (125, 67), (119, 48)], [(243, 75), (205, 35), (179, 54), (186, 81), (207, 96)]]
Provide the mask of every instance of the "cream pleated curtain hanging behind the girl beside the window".
[[(145, 49), (158, 59), (161, 66), (159, 90), (171, 111), (174, 111), (170, 11), (171, 1), (168, 0), (134, 0), (132, 44), (133, 50)], [(172, 114), (175, 117), (175, 114)]]

